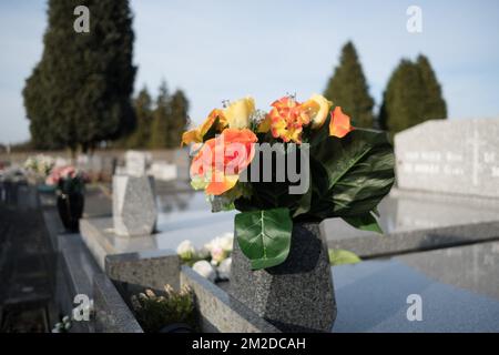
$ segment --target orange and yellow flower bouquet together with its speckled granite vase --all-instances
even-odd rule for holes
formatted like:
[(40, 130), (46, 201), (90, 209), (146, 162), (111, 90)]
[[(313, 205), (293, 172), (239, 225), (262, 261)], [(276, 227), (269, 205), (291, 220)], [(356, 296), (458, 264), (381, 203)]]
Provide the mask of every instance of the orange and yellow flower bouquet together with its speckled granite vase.
[(191, 184), (212, 211), (236, 209), (231, 294), (287, 332), (327, 332), (336, 317), (325, 236), (340, 217), (381, 232), (377, 205), (394, 183), (388, 136), (354, 128), (322, 95), (284, 97), (268, 112), (242, 99), (182, 136)]

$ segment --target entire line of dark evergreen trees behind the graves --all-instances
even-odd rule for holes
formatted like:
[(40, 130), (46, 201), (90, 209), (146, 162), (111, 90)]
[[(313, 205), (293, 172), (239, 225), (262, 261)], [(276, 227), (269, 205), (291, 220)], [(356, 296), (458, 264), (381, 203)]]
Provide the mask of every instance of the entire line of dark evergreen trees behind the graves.
[[(189, 126), (189, 101), (162, 83), (153, 100), (144, 87), (132, 98), (132, 13), (129, 0), (49, 0), (43, 52), (23, 89), (31, 146), (73, 153), (99, 146), (176, 148)], [(74, 8), (90, 9), (89, 32), (73, 28)], [(399, 132), (447, 116), (429, 60), (401, 60), (377, 114), (356, 49), (345, 44), (324, 95), (344, 108), (354, 124)]]

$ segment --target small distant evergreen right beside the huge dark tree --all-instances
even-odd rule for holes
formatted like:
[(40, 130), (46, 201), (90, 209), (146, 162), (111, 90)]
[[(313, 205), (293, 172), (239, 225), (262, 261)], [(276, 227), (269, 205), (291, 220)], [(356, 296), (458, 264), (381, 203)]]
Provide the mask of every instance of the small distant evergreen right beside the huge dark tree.
[(132, 149), (147, 148), (151, 141), (151, 125), (153, 120), (152, 99), (147, 88), (143, 88), (134, 100), (136, 129), (129, 136), (126, 146)]

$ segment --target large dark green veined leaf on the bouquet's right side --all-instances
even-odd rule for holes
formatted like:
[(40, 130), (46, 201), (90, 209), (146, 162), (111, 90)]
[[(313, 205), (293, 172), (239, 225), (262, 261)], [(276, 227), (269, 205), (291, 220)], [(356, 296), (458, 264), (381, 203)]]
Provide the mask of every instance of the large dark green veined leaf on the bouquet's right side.
[(317, 220), (367, 215), (390, 191), (394, 164), (393, 146), (383, 132), (356, 129), (343, 139), (313, 142), (308, 215)]

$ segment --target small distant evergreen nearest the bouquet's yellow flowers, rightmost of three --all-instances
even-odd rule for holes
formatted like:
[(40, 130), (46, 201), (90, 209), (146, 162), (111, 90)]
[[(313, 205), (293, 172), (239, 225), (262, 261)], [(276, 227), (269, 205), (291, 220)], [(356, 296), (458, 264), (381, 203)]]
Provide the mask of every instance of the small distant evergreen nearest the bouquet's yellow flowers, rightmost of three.
[(182, 133), (189, 128), (189, 101), (182, 90), (176, 90), (172, 95), (171, 120), (169, 126), (167, 148), (179, 148)]

